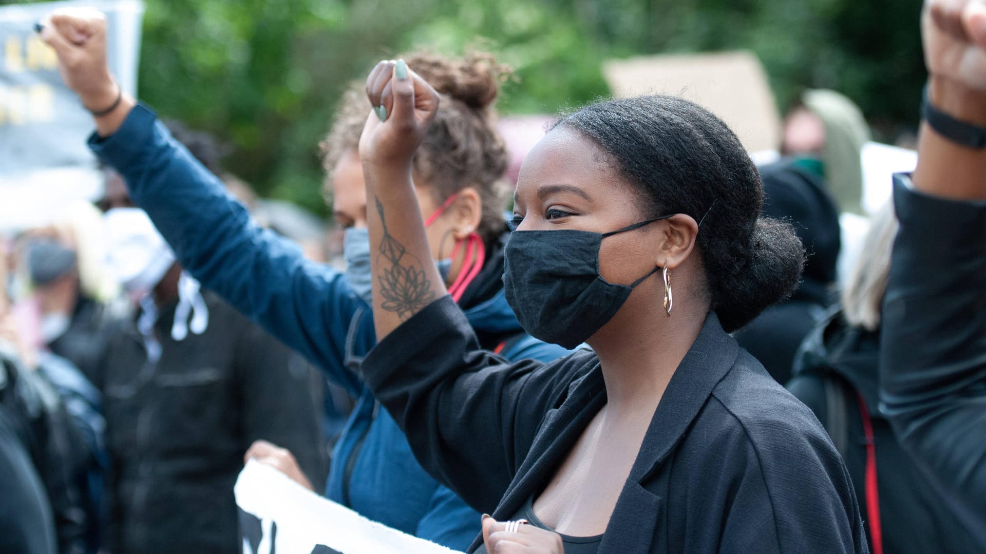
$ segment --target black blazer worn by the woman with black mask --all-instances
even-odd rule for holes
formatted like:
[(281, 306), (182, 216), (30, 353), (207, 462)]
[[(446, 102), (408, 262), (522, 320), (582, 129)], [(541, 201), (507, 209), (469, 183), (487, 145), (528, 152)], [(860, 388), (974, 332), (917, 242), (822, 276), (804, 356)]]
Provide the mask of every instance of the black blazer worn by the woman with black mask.
[[(508, 365), (476, 349), (444, 297), (387, 335), (364, 373), (422, 465), (504, 519), (547, 485), (605, 404), (605, 387), (589, 351)], [(824, 430), (710, 314), (654, 414), (599, 552), (866, 551), (852, 483)]]

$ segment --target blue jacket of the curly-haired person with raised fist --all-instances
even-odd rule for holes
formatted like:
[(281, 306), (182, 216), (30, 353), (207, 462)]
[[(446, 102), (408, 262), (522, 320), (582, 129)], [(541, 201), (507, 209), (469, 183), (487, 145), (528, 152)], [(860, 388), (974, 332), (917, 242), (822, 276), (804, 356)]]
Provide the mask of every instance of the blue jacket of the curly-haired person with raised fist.
[[(332, 456), (325, 496), (404, 532), (464, 550), (479, 515), (418, 464), (359, 375), (376, 344), (373, 317), (343, 275), (262, 230), (143, 105), (90, 148), (120, 173), (186, 271), (358, 398)], [(465, 312), (477, 331), (522, 332), (501, 290)], [(567, 354), (527, 335), (501, 354), (543, 362)], [(492, 508), (491, 508), (492, 509)]]

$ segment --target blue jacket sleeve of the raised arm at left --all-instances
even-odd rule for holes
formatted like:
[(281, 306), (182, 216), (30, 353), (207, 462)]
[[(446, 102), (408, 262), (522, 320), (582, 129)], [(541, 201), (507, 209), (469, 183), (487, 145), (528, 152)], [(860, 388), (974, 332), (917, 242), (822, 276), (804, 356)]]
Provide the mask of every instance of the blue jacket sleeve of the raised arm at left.
[(138, 105), (114, 134), (90, 148), (120, 173), (180, 264), (207, 288), (359, 394), (344, 365), (350, 321), (366, 304), (345, 278), (305, 259), (300, 249), (257, 227), (147, 107)]

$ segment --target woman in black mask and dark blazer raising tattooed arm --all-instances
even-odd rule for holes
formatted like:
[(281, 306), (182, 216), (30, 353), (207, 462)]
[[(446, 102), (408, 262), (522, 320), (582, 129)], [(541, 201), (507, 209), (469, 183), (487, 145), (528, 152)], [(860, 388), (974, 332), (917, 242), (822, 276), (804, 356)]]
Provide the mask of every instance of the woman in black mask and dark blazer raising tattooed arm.
[[(360, 143), (378, 346), (362, 369), (419, 460), (490, 507), (469, 552), (866, 552), (852, 484), (808, 408), (727, 334), (798, 283), (739, 140), (671, 97), (592, 104), (528, 155), (507, 299), (577, 352), (508, 364), (446, 296), (411, 160), (435, 113), (401, 60), (367, 80)], [(444, 102), (444, 101), (443, 101)]]

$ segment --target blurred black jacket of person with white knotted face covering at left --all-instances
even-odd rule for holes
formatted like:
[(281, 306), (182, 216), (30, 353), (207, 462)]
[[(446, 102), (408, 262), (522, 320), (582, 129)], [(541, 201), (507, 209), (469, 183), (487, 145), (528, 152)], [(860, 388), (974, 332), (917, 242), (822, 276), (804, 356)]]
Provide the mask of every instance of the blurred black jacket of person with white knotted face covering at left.
[(291, 450), (313, 483), (324, 479), (317, 407), (304, 365), (215, 295), (209, 325), (172, 339), (175, 303), (148, 362), (136, 327), (110, 341), (104, 391), (111, 552), (239, 552), (233, 485), (250, 444)]

